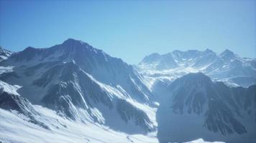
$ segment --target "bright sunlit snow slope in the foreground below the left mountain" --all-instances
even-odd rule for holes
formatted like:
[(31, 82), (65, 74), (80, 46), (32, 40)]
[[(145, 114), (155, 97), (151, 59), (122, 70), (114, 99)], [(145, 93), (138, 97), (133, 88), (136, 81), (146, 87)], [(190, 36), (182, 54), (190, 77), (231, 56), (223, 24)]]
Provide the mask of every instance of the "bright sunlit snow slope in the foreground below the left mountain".
[[(63, 119), (54, 111), (35, 106), (40, 116), (37, 117), (50, 129), (43, 129), (26, 121), (26, 117), (15, 111), (0, 109), (0, 141), (2, 142), (158, 142), (155, 133), (147, 135), (125, 134), (108, 127), (74, 122)], [(192, 141), (204, 142), (203, 139)]]

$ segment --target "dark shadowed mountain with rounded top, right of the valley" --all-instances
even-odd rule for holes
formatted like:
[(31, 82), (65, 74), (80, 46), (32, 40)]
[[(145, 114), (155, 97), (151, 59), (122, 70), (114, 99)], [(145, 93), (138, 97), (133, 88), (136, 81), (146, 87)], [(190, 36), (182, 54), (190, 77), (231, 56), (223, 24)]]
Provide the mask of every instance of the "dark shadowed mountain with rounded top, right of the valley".
[[(186, 74), (162, 91), (160, 142), (256, 142), (256, 85), (228, 87), (202, 73)], [(182, 134), (182, 135), (181, 135)]]

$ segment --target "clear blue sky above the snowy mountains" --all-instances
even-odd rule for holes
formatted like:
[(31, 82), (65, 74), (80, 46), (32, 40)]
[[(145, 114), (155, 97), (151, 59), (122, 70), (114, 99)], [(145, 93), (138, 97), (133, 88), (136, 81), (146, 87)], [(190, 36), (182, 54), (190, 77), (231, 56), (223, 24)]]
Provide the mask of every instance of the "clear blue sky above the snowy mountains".
[(73, 38), (129, 64), (174, 49), (256, 57), (253, 0), (0, 1), (0, 46), (12, 51)]

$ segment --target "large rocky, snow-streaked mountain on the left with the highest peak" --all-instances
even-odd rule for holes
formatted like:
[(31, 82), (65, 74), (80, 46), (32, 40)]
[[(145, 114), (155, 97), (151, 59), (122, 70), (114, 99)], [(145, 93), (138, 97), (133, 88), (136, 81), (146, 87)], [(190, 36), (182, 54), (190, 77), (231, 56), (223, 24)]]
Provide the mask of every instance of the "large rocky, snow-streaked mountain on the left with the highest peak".
[[(152, 94), (122, 59), (83, 41), (12, 54), (1, 61), (1, 81), (21, 86), (21, 99), (81, 122), (97, 122), (127, 133), (155, 131)], [(1, 95), (2, 96), (2, 95)], [(142, 108), (140, 108), (141, 105)]]

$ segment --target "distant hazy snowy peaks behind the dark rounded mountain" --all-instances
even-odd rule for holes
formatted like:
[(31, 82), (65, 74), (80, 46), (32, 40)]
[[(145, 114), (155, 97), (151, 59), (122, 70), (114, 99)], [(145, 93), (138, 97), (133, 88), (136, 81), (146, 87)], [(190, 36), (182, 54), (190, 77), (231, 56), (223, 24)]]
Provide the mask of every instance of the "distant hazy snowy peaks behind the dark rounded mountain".
[(229, 84), (243, 87), (256, 84), (256, 59), (242, 58), (229, 50), (219, 55), (210, 49), (150, 54), (142, 59), (137, 69), (144, 75), (147, 87), (152, 87), (157, 79), (173, 81), (198, 71)]

